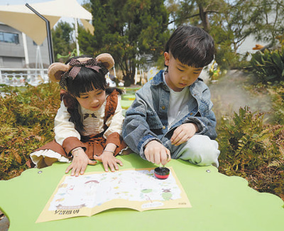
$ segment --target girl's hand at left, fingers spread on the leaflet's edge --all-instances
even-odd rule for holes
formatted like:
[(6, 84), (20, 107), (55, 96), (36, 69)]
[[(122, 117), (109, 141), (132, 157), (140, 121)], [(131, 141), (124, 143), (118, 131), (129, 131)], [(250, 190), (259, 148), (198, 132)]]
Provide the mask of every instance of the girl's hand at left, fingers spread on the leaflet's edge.
[(83, 175), (84, 171), (87, 168), (87, 165), (95, 165), (97, 161), (91, 161), (87, 154), (84, 153), (83, 149), (76, 149), (72, 152), (73, 160), (70, 166), (66, 169), (65, 173), (69, 173), (71, 171), (71, 176), (79, 176)]

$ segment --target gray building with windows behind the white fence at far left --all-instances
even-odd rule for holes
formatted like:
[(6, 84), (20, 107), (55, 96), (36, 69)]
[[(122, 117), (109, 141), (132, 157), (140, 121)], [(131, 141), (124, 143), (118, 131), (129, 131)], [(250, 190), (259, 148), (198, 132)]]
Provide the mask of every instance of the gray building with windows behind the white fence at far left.
[(11, 26), (0, 23), (0, 68), (48, 68), (48, 40), (37, 45)]

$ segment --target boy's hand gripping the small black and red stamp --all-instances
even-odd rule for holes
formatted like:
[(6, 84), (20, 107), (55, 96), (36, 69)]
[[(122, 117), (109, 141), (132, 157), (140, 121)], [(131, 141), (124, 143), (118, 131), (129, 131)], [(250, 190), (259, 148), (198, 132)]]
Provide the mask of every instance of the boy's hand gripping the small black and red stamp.
[(146, 159), (152, 163), (165, 165), (170, 161), (170, 150), (158, 141), (150, 141), (144, 149)]

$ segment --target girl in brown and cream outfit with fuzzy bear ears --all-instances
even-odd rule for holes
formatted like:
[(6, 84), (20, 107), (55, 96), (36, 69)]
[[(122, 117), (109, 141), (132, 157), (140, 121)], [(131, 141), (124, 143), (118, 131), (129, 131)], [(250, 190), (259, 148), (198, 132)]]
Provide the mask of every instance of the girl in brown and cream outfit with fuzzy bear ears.
[(48, 77), (60, 81), (62, 102), (55, 117), (55, 140), (30, 154), (36, 167), (72, 160), (66, 173), (72, 170), (71, 176), (79, 176), (88, 164), (102, 161), (105, 171), (119, 170), (122, 162), (115, 156), (126, 148), (121, 139), (121, 90), (108, 88), (104, 77), (113, 66), (107, 53), (50, 65)]

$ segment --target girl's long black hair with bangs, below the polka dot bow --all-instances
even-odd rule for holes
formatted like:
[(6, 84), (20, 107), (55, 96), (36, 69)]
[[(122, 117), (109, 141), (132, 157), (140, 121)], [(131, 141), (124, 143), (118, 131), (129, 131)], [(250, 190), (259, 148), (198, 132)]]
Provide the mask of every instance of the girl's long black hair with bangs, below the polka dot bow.
[[(74, 58), (82, 58), (88, 57), (92, 58), (89, 55), (82, 55)], [(66, 63), (69, 63), (70, 60), (67, 60)], [(107, 94), (110, 94), (114, 90), (117, 90), (119, 94), (122, 94), (122, 90), (116, 87), (108, 87), (107, 80), (102, 73), (102, 70), (99, 72), (92, 70), (90, 68), (86, 68), (84, 66), (81, 67), (80, 72), (76, 75), (75, 79), (67, 78), (66, 80), (67, 92), (74, 98), (74, 108), (67, 108), (67, 111), (70, 113), (70, 122), (75, 124), (75, 129), (80, 133), (84, 131), (84, 125), (81, 120), (80, 113), (78, 111), (79, 102), (75, 97), (80, 97), (80, 95), (84, 92), (90, 92), (94, 89), (104, 90)]]

